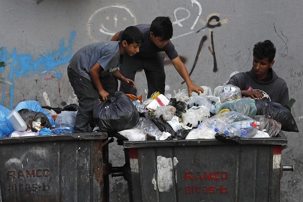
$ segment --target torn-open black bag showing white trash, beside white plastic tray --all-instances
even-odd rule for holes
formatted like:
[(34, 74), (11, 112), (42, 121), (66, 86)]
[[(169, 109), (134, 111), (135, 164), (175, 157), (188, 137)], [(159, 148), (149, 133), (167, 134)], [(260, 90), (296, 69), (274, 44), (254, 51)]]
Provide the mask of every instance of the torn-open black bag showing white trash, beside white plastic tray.
[(25, 121), (28, 128), (30, 128), (33, 132), (40, 131), (44, 127), (52, 127), (48, 117), (42, 112), (32, 111), (29, 109), (20, 109), (18, 113)]

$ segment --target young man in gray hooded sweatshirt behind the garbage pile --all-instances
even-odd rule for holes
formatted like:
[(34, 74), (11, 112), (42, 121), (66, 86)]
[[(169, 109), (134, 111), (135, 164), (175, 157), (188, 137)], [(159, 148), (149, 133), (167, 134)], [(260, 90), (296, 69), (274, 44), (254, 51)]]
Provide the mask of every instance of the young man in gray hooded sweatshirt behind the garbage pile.
[[(251, 70), (233, 75), (227, 84), (238, 86), (242, 96), (252, 99), (268, 98), (291, 111), (286, 82), (272, 70), (275, 54), (276, 48), (270, 40), (256, 43)], [(253, 91), (248, 91), (249, 87)]]

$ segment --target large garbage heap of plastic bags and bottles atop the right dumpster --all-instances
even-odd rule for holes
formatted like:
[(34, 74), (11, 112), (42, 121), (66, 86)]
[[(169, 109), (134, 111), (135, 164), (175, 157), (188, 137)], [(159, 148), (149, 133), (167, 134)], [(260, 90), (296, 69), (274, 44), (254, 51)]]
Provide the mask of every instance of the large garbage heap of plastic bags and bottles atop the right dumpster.
[[(145, 101), (142, 96), (117, 92), (103, 104), (107, 110), (96, 105), (94, 118), (102, 120), (100, 131), (118, 133), (129, 141), (216, 138), (238, 142), (276, 137), (280, 130), (298, 132), (291, 112), (281, 104), (266, 98), (242, 98), (233, 85), (218, 86), (214, 94), (209, 87), (201, 87), (204, 92), (199, 95), (193, 92), (189, 96), (187, 89), (173, 97), (155, 92)], [(117, 103), (121, 97), (124, 106)]]

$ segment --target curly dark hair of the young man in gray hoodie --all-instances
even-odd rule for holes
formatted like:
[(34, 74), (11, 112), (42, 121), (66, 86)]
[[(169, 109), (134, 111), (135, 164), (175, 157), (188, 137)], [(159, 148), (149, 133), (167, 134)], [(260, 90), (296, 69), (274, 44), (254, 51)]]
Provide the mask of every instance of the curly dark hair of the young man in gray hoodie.
[(268, 58), (269, 63), (271, 63), (275, 58), (276, 48), (270, 40), (260, 41), (255, 44), (253, 55), (260, 60)]

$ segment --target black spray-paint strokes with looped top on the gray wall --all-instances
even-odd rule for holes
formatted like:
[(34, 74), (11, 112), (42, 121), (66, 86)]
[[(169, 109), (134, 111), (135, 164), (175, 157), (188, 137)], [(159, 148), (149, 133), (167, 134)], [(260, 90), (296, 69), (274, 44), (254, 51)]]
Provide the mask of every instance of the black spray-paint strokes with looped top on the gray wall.
[[(217, 23), (216, 24), (211, 24), (211, 21), (212, 20), (215, 20)], [(211, 16), (209, 19), (208, 19), (208, 22), (207, 22), (207, 25), (202, 27), (201, 29), (199, 29), (198, 31), (196, 31), (196, 33), (200, 32), (202, 29), (205, 29), (205, 28), (215, 28), (215, 27), (220, 27), (221, 26), (221, 23), (219, 22), (220, 21), (220, 18), (216, 15), (213, 15)], [(217, 68), (217, 60), (216, 60), (216, 54), (215, 54), (215, 47), (214, 47), (214, 35), (213, 35), (213, 31), (211, 31), (211, 48), (212, 48), (212, 56), (214, 58), (214, 68), (213, 68), (213, 71), (216, 72), (218, 71), (218, 68)], [(197, 61), (199, 59), (199, 56), (200, 56), (200, 53), (201, 53), (201, 50), (204, 46), (204, 42), (207, 40), (207, 35), (204, 35), (202, 38), (201, 38), (201, 41), (200, 41), (200, 44), (199, 44), (199, 47), (198, 47), (198, 51), (197, 51), (197, 54), (196, 54), (196, 57), (195, 57), (195, 61), (194, 61), (194, 64), (191, 68), (191, 71), (189, 72), (189, 76), (192, 74), (192, 72), (194, 71), (195, 67), (196, 67), (196, 64), (197, 64)], [(183, 81), (181, 84), (184, 84), (185, 81)]]

